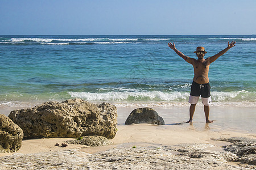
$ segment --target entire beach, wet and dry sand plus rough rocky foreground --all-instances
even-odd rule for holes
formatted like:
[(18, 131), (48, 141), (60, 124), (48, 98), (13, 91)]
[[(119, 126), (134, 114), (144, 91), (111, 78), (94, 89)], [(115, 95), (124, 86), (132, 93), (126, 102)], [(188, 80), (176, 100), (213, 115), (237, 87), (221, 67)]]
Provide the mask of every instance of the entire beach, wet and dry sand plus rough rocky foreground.
[[(147, 162), (147, 160), (144, 159), (140, 160), (142, 157), (137, 155), (142, 152), (144, 153), (144, 156), (150, 156), (148, 159), (157, 159), (155, 164), (160, 166), (163, 163), (159, 162), (161, 159), (154, 156), (156, 154), (156, 149), (158, 150), (158, 155), (164, 156), (166, 154), (171, 154), (171, 158), (168, 156), (166, 157), (168, 160), (177, 159), (177, 155), (180, 155), (177, 150), (181, 150), (183, 147), (196, 147), (197, 150), (202, 150), (203, 152), (206, 152), (205, 149), (207, 149), (207, 152), (212, 152), (215, 155), (218, 153), (217, 155), (219, 156), (217, 157), (222, 158), (220, 154), (225, 153), (223, 146), (229, 145), (230, 142), (216, 141), (216, 139), (230, 137), (256, 139), (253, 107), (213, 106), (211, 110), (212, 114), (210, 114), (210, 117), (214, 121), (213, 124), (206, 124), (204, 122), (204, 113), (200, 106), (197, 108), (195, 122), (192, 124), (184, 123), (188, 117), (188, 107), (155, 107), (154, 109), (159, 113), (159, 116), (164, 118), (166, 125), (124, 125), (127, 116), (129, 116), (134, 108), (136, 107), (119, 107), (117, 109), (118, 131), (115, 137), (110, 140), (113, 142), (113, 145), (88, 147), (85, 145), (68, 144), (68, 147), (57, 147), (55, 146), (56, 143), (61, 144), (71, 138), (27, 139), (23, 140), (22, 147), (18, 152), (0, 154), (0, 167), (2, 166), (1, 168), (3, 169), (10, 169), (10, 166), (14, 166), (16, 169), (65, 169), (67, 167), (72, 168), (72, 164), (77, 163), (73, 169), (79, 167), (83, 167), (84, 169), (129, 169), (129, 163), (126, 161), (121, 163), (121, 161), (115, 162), (113, 160), (113, 162), (110, 161), (112, 164), (109, 164), (109, 161), (104, 162), (104, 160), (98, 159), (100, 159), (101, 156), (105, 156), (104, 158), (110, 158), (112, 156), (113, 159), (120, 160), (122, 156), (126, 155), (126, 157), (122, 157), (122, 160), (127, 160), (129, 155), (134, 155), (135, 160), (138, 158), (138, 163)], [(225, 112), (225, 114), (223, 112)], [(241, 113), (243, 114), (241, 115)], [(247, 118), (242, 118), (245, 114), (249, 115), (246, 116)], [(248, 117), (251, 118), (248, 119)], [(52, 155), (55, 155), (53, 157), (56, 157), (56, 160), (49, 159)], [(176, 157), (174, 158), (174, 156)], [(96, 158), (98, 159), (96, 160)], [(15, 161), (13, 161), (14, 159)], [(182, 158), (179, 157), (179, 161), (183, 161), (183, 159), (185, 160), (188, 158), (184, 156)], [(94, 160), (93, 163), (92, 160)], [(180, 164), (185, 166), (186, 164), (191, 164), (192, 160), (193, 159), (189, 158), (187, 163), (181, 163), (181, 161)], [(216, 160), (213, 160), (213, 162), (214, 161)], [(56, 165), (56, 162), (60, 162), (60, 164)], [(176, 164), (170, 164), (168, 162), (165, 162), (164, 164), (167, 168), (175, 168), (176, 166)], [(195, 164), (192, 165), (198, 166), (197, 169), (201, 169), (199, 164), (201, 163), (195, 162)], [(230, 163), (222, 160), (218, 160), (218, 163), (216, 164), (216, 167), (209, 165), (205, 169), (221, 169), (221, 167), (222, 169), (256, 168), (255, 165)], [(130, 164), (130, 167), (131, 169), (161, 169), (161, 166), (154, 168), (151, 164), (144, 166)], [(192, 167), (187, 167), (187, 169), (190, 168)]]

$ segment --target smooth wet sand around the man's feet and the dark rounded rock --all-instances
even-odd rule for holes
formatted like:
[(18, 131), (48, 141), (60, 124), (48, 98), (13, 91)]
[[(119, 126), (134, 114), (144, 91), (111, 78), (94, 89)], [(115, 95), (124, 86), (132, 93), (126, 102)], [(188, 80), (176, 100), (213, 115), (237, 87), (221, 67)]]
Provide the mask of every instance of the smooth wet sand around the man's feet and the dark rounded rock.
[[(118, 124), (125, 124), (126, 118), (133, 109), (138, 107), (118, 107)], [(180, 107), (151, 107), (163, 117), (166, 125), (179, 125), (189, 120), (189, 105)], [(212, 124), (205, 124), (203, 105), (198, 104), (193, 117), (193, 124), (185, 124), (196, 130), (206, 127), (212, 131), (237, 131), (241, 133), (256, 133), (256, 107), (240, 106), (210, 106), (210, 120)]]

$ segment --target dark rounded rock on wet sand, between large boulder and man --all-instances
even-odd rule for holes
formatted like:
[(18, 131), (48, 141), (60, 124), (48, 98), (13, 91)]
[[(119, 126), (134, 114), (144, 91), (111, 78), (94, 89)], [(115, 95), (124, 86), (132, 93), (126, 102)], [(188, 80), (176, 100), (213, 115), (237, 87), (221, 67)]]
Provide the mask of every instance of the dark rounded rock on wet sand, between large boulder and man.
[(158, 113), (151, 108), (134, 109), (125, 121), (126, 125), (130, 124), (153, 124), (164, 125), (164, 120)]

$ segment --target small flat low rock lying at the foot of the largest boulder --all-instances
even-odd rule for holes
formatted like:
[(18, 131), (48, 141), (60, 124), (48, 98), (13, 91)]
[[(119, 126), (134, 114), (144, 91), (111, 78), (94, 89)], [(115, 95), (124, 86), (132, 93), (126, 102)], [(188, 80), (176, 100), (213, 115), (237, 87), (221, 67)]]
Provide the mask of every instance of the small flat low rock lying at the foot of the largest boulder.
[(76, 140), (65, 141), (66, 143), (76, 144), (76, 145), (87, 145), (87, 146), (104, 146), (112, 145), (107, 138), (101, 136), (85, 136), (77, 138)]

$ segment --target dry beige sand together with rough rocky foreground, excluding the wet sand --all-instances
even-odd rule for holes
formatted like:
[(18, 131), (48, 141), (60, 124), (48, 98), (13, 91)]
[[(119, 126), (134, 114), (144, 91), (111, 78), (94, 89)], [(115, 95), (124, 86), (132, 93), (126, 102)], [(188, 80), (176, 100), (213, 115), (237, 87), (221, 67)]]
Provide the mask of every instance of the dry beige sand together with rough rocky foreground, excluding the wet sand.
[[(179, 150), (184, 148), (196, 149), (196, 151), (212, 153), (219, 160), (207, 160), (205, 169), (255, 169), (255, 165), (226, 162), (221, 157), (225, 155), (223, 146), (229, 142), (215, 141), (219, 138), (246, 137), (256, 139), (256, 134), (238, 133), (234, 131), (212, 131), (208, 125), (204, 130), (196, 130), (193, 125), (118, 125), (118, 132), (113, 145), (88, 147), (84, 145), (68, 145), (57, 147), (55, 143), (63, 143), (69, 138), (29, 139), (22, 142), (22, 147), (16, 153), (0, 154), (2, 169), (162, 169), (163, 167), (177, 169), (201, 169), (202, 162), (193, 160), (188, 156), (179, 157)], [(157, 153), (156, 153), (157, 151)], [(143, 153), (143, 154), (142, 154)], [(133, 162), (127, 161), (134, 156)], [(167, 160), (175, 160), (176, 163), (160, 162), (159, 156)], [(171, 156), (171, 157), (170, 157)], [(104, 160), (112, 158), (113, 160)], [(147, 159), (145, 159), (147, 158)], [(156, 159), (152, 165), (143, 165), (143, 162)], [(93, 161), (93, 159), (97, 159)], [(141, 160), (143, 159), (143, 160)], [(205, 158), (208, 159), (208, 158)], [(215, 158), (214, 158), (215, 159)], [(222, 160), (223, 159), (223, 160)], [(116, 162), (116, 161), (117, 162)], [(186, 162), (183, 162), (186, 160)], [(205, 160), (203, 160), (205, 161)], [(210, 163), (212, 162), (213, 163)], [(129, 162), (129, 161), (128, 161)], [(189, 162), (194, 162), (193, 164)], [(112, 163), (112, 164), (110, 164)], [(139, 165), (140, 164), (140, 165)], [(191, 164), (187, 167), (187, 164)], [(200, 165), (201, 164), (201, 165)], [(182, 168), (183, 166), (187, 168)]]

